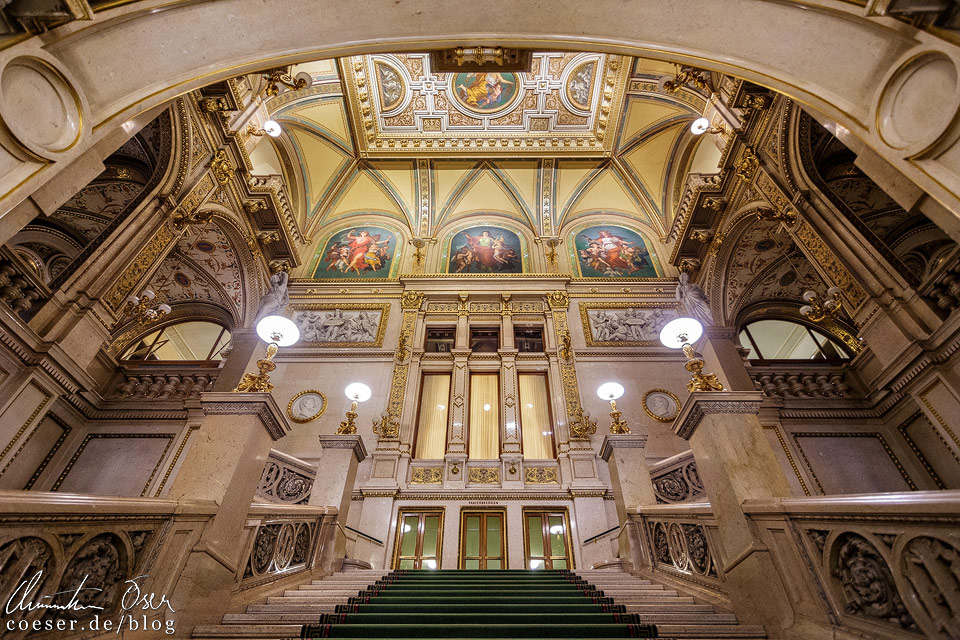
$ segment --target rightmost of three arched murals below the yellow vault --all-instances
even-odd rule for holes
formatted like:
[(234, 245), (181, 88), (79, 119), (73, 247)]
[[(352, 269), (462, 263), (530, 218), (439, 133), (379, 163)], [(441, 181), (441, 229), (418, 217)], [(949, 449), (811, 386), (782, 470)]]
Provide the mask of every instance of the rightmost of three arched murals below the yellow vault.
[(643, 236), (624, 227), (586, 227), (574, 235), (572, 247), (583, 278), (656, 278), (661, 273)]

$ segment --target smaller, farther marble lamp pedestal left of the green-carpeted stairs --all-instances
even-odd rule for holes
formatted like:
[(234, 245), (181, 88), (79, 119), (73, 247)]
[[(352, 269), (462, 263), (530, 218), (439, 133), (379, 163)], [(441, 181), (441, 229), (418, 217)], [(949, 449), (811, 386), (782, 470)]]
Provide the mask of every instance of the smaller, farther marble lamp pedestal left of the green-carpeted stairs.
[[(314, 506), (335, 506), (338, 509), (337, 521), (347, 523), (351, 494), (357, 478), (357, 466), (367, 457), (363, 439), (356, 434), (324, 434), (320, 439), (320, 473), (318, 482), (310, 494), (309, 504)], [(340, 560), (346, 551), (346, 538), (337, 536), (337, 542), (324, 553), (321, 566), (324, 571), (338, 570)]]

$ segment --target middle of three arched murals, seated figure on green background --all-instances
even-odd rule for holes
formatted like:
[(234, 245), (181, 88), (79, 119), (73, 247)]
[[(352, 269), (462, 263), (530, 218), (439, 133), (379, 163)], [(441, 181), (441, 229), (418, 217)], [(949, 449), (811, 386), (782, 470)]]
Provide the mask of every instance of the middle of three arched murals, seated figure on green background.
[(523, 273), (523, 245), (513, 231), (476, 226), (450, 240), (447, 273)]

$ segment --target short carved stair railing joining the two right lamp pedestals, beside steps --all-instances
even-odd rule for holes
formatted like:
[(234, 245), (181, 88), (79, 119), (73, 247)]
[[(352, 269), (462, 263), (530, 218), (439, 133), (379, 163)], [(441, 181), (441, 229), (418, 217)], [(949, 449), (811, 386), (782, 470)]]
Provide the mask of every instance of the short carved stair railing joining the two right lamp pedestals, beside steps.
[(717, 522), (709, 504), (640, 507), (638, 513), (629, 516), (640, 532), (646, 546), (646, 564), (653, 571), (723, 596)]

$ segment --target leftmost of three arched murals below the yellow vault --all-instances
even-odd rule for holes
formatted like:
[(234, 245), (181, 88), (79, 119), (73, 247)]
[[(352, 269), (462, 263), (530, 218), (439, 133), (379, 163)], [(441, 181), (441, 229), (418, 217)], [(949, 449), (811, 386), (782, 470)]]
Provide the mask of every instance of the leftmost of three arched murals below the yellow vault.
[(317, 257), (314, 278), (390, 278), (396, 275), (397, 234), (383, 227), (350, 227), (334, 233)]

